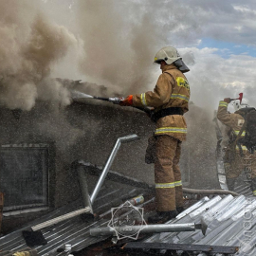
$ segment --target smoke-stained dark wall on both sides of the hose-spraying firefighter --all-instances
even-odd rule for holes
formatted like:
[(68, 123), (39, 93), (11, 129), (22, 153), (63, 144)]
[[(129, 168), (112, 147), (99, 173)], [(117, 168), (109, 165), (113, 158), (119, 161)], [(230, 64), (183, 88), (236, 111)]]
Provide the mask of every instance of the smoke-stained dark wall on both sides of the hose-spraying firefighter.
[[(92, 101), (74, 102), (54, 111), (50, 103), (41, 101), (18, 116), (9, 109), (0, 109), (2, 145), (46, 142), (55, 145), (56, 178), (50, 181), (54, 184), (51, 196), (54, 196), (55, 207), (80, 196), (77, 179), (70, 171), (73, 161), (83, 159), (103, 166), (117, 138), (130, 134), (137, 134), (140, 139), (120, 147), (111, 169), (154, 184), (154, 165), (145, 164), (144, 155), (155, 124), (137, 110)], [(183, 142), (180, 161), (183, 181), (190, 181), (188, 185), (192, 188), (217, 188), (212, 118), (191, 105), (186, 119), (188, 140)]]

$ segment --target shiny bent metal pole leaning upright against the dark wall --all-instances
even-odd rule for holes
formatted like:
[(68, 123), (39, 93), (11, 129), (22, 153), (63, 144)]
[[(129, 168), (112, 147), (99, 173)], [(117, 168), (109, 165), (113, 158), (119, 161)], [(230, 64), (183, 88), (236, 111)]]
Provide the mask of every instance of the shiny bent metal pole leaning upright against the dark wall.
[(96, 187), (95, 187), (94, 191), (92, 192), (91, 204), (94, 203), (95, 198), (96, 198), (98, 192), (100, 192), (100, 190), (101, 190), (101, 186), (102, 186), (102, 184), (104, 182), (104, 179), (105, 179), (105, 177), (106, 177), (106, 175), (107, 175), (107, 173), (108, 173), (108, 171), (109, 171), (109, 169), (110, 169), (110, 167), (111, 167), (111, 165), (112, 165), (112, 163), (113, 163), (113, 161), (114, 161), (114, 159), (115, 159), (115, 157), (116, 157), (116, 155), (117, 155), (117, 153), (119, 151), (119, 147), (120, 147), (121, 142), (123, 142), (123, 143), (124, 142), (130, 142), (130, 141), (134, 141), (134, 140), (136, 140), (138, 138), (139, 137), (137, 137), (137, 135), (130, 135), (130, 136), (119, 137), (118, 138), (118, 140), (117, 140), (117, 142), (116, 142), (116, 144), (115, 144), (111, 154), (109, 155), (109, 157), (108, 157), (108, 159), (107, 159), (107, 161), (105, 163), (105, 166), (104, 166), (102, 174), (101, 174), (101, 176), (100, 176), (100, 178), (99, 178), (99, 180), (98, 180), (98, 182), (96, 184)]

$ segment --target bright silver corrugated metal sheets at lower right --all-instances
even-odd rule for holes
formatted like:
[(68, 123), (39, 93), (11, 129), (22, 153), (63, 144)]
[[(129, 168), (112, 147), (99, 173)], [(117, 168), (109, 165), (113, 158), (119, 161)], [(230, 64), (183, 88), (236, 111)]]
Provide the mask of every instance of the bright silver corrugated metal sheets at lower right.
[[(190, 232), (159, 233), (145, 239), (146, 243), (174, 243), (210, 246), (240, 247), (235, 255), (256, 255), (256, 198), (240, 195), (233, 197), (204, 197), (191, 208), (183, 211), (168, 223), (199, 223), (203, 219), (208, 224), (204, 236), (201, 230)], [(205, 253), (195, 255), (206, 256)], [(221, 256), (222, 254), (218, 254)]]

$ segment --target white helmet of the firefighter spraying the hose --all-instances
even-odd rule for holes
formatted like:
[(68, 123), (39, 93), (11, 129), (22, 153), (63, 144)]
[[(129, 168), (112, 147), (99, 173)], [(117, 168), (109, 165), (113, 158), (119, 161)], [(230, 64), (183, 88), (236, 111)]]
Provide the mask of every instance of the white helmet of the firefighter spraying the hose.
[(154, 63), (160, 64), (162, 61), (166, 62), (166, 64), (175, 64), (182, 73), (190, 71), (190, 68), (184, 64), (177, 49), (173, 46), (163, 47), (156, 52)]

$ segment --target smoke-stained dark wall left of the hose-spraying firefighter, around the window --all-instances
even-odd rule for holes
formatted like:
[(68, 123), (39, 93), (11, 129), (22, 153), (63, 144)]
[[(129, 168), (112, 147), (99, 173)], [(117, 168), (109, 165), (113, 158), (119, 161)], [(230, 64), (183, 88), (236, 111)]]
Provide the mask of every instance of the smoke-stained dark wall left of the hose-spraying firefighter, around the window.
[(117, 138), (130, 134), (140, 140), (123, 144), (111, 169), (152, 183), (153, 167), (144, 163), (144, 152), (154, 125), (145, 114), (105, 104), (73, 103), (54, 111), (51, 107), (41, 101), (19, 113), (1, 108), (0, 144), (54, 144), (55, 179), (50, 180), (54, 194), (50, 195), (55, 207), (80, 196), (77, 178), (70, 170), (73, 161), (103, 166)]

